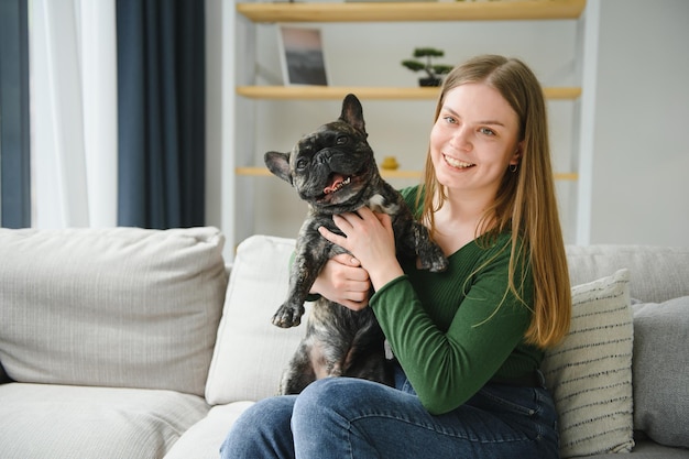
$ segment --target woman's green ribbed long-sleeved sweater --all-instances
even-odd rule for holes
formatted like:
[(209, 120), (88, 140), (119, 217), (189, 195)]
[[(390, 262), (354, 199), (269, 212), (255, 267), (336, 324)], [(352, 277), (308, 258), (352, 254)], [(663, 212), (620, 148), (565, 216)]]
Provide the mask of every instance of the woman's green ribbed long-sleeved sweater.
[[(415, 193), (415, 187), (403, 190), (412, 208)], [(442, 273), (403, 263), (405, 275), (370, 299), (395, 357), (433, 414), (455, 409), (492, 378), (533, 374), (543, 360), (540, 349), (523, 342), (532, 319), (531, 273), (521, 291), (525, 305), (507, 287), (510, 233), (484, 245), (466, 244), (449, 256)]]

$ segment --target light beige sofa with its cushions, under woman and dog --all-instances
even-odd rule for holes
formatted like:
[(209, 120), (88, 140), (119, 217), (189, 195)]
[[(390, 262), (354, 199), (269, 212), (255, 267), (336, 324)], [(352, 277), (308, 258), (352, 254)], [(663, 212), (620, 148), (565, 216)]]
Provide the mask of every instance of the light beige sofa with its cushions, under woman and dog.
[[(293, 248), (249, 238), (228, 277), (215, 228), (0, 230), (0, 457), (218, 457), (302, 336), (270, 323)], [(568, 251), (562, 457), (689, 458), (689, 248)]]

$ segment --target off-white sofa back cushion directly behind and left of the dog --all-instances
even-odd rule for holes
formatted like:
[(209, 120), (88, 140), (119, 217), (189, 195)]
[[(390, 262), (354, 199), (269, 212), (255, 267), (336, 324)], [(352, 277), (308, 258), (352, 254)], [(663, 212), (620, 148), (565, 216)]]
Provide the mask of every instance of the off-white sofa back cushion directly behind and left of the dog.
[(294, 243), (252, 236), (239, 244), (206, 384), (208, 403), (258, 401), (277, 393), (282, 371), (305, 334), (304, 326), (283, 329), (271, 323), (287, 295)]

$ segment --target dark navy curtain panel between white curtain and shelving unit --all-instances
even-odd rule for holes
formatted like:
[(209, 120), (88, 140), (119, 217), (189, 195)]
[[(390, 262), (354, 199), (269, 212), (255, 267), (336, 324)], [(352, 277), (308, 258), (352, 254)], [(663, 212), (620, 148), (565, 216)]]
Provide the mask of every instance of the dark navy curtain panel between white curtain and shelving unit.
[(204, 225), (204, 3), (117, 0), (120, 226)]

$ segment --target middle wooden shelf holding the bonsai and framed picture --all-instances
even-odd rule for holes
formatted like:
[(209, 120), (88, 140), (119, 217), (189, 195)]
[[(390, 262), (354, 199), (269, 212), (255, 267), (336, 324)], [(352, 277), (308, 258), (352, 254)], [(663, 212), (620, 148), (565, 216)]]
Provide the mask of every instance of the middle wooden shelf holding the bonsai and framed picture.
[[(546, 98), (550, 100), (576, 100), (581, 96), (581, 88), (579, 87), (544, 88), (543, 91)], [(356, 94), (360, 99), (369, 100), (435, 100), (438, 97), (439, 88), (375, 88), (347, 86), (237, 87), (237, 94), (240, 96), (250, 99), (272, 100), (341, 100), (350, 92)]]

